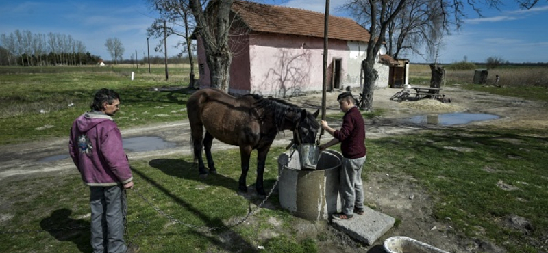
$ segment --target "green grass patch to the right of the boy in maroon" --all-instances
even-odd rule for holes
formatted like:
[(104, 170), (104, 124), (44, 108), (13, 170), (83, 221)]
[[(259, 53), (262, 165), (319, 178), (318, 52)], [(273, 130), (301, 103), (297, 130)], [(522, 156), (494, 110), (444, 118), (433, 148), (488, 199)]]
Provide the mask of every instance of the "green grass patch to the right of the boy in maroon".
[[(547, 136), (483, 128), (371, 139), (367, 165), (414, 176), (436, 199), (435, 217), (449, 218), (467, 237), (507, 245), (509, 252), (540, 250), (548, 235), (548, 177), (540, 176), (548, 158)], [(507, 191), (502, 185), (515, 188)], [(529, 220), (533, 229), (509, 226), (513, 215)]]

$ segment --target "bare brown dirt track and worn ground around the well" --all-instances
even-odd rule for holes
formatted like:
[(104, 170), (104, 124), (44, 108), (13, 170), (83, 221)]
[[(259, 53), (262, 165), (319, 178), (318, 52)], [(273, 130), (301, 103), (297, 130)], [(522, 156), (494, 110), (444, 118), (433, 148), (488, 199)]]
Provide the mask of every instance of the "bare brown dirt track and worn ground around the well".
[[(480, 124), (497, 124), (499, 127), (526, 127), (531, 129), (546, 129), (548, 127), (547, 106), (545, 103), (524, 101), (521, 98), (496, 96), (484, 92), (471, 92), (460, 88), (445, 88), (443, 93), (451, 98), (451, 103), (422, 99), (419, 101), (403, 101), (401, 103), (390, 101), (390, 96), (400, 89), (384, 88), (375, 90), (373, 97), (374, 109), (386, 109), (382, 118), (366, 120), (366, 137), (379, 138), (388, 135), (405, 134), (409, 131), (428, 126), (416, 126), (403, 123), (402, 118), (414, 115), (442, 114), (448, 112), (468, 111), (471, 113), (495, 114), (500, 116), (498, 120), (489, 120), (466, 124), (465, 128), (473, 128)], [(338, 112), (336, 92), (327, 93), (327, 112)], [(289, 98), (290, 103), (302, 107), (317, 109), (321, 106), (321, 94)], [(330, 122), (336, 127), (338, 122)], [(436, 126), (434, 126), (436, 127)], [(49, 126), (40, 127), (37, 130), (47, 131)], [(177, 146), (169, 150), (128, 152), (129, 159), (153, 159), (162, 155), (186, 155), (190, 154), (188, 148), (189, 130), (186, 121), (154, 124), (145, 127), (127, 129), (122, 132), (125, 138), (138, 136), (158, 136), (166, 141), (175, 142)], [(280, 135), (274, 145), (286, 146), (291, 134)], [(326, 137), (327, 138), (327, 137)], [(68, 141), (66, 138), (55, 139), (51, 142), (32, 142), (0, 146), (0, 183), (17, 178), (40, 177), (45, 173), (74, 173), (74, 165), (67, 157)], [(214, 149), (224, 149), (217, 142)], [(40, 147), (40, 148), (37, 148)], [(63, 159), (54, 161), (41, 161), (45, 157), (60, 156)], [(364, 168), (366, 171), (366, 167)], [(403, 235), (423, 241), (447, 252), (504, 252), (497, 245), (488, 241), (463, 238), (443, 222), (436, 222), (432, 217), (432, 199), (414, 178), (406, 175), (387, 175), (373, 173), (364, 181), (366, 202), (376, 207), (377, 211), (386, 213), (392, 217), (401, 219), (397, 228), (390, 229), (383, 237), (373, 245), (361, 245), (351, 240), (347, 235), (335, 230), (326, 222), (300, 221), (295, 224), (301, 236), (322, 235), (325, 241), (321, 242), (321, 253), (339, 252), (384, 252), (382, 242), (384, 239)], [(276, 221), (272, 221), (276, 223)]]

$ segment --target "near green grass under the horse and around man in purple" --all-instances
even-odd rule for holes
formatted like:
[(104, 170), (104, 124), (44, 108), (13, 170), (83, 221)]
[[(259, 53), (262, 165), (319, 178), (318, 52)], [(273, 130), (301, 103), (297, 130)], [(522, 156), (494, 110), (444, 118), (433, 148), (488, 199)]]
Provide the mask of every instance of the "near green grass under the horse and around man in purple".
[[(277, 156), (284, 151), (273, 148), (269, 154), (266, 189), (273, 187)], [(297, 232), (291, 224), (297, 218), (280, 209), (277, 196), (269, 199), (277, 209), (261, 209), (249, 217), (255, 222), (233, 226), (262, 200), (247, 200), (236, 193), (240, 176), (237, 149), (216, 152), (214, 157), (219, 174), (205, 180), (199, 179), (192, 157), (132, 161), (136, 188), (127, 191), (127, 240), (134, 240), (144, 252), (257, 252), (258, 245), (268, 252), (317, 252), (315, 238), (295, 239)], [(250, 183), (256, 179), (254, 174), (248, 174)], [(0, 190), (4, 193), (1, 232), (6, 232), (0, 234), (0, 252), (91, 251), (89, 189), (76, 172), (14, 180), (1, 184)], [(281, 224), (269, 223), (271, 218)], [(263, 238), (268, 231), (278, 236)]]

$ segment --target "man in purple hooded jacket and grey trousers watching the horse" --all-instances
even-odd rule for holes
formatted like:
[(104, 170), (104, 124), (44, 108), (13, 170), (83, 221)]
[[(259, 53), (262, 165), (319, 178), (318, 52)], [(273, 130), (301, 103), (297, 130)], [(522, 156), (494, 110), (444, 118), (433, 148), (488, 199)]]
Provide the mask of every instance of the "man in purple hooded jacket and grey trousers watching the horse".
[(119, 105), (119, 94), (103, 88), (95, 94), (92, 111), (79, 116), (71, 128), (69, 152), (90, 187), (94, 253), (138, 252), (136, 245), (127, 247), (123, 239), (123, 189), (132, 189), (134, 183), (122, 135), (112, 119)]

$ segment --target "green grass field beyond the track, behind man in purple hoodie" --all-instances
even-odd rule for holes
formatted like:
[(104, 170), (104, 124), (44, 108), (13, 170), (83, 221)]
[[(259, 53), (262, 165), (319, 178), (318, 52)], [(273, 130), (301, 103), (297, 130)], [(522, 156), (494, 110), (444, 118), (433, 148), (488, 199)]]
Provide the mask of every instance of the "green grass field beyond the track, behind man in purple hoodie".
[(27, 69), (29, 73), (0, 75), (0, 145), (66, 135), (73, 120), (89, 110), (93, 94), (100, 88), (121, 94), (122, 110), (116, 122), (122, 129), (186, 118), (184, 109), (190, 94), (184, 71), (188, 73), (188, 68), (172, 71), (179, 74), (171, 75), (170, 81), (148, 74), (144, 68), (139, 69), (143, 73), (136, 74), (134, 81), (124, 67), (49, 67), (51, 71), (46, 73), (39, 72), (45, 68)]

